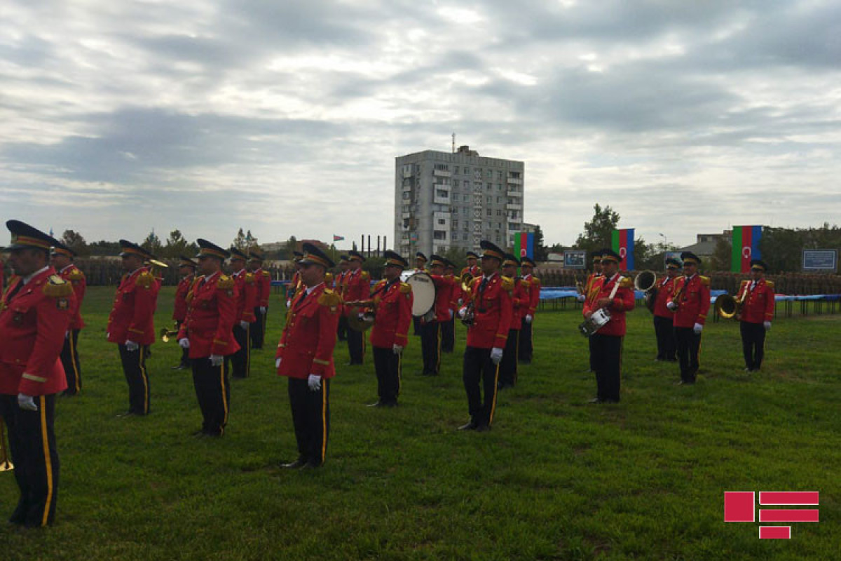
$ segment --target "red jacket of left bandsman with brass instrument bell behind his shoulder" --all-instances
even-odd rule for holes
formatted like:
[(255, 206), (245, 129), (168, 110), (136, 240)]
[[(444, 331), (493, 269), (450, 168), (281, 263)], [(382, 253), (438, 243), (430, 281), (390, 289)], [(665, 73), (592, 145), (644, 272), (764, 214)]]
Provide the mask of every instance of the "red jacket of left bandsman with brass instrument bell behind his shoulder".
[(140, 345), (155, 342), (155, 323), (152, 316), (156, 305), (155, 278), (146, 267), (124, 274), (114, 296), (114, 308), (108, 316), (108, 341), (124, 344), (135, 341)]

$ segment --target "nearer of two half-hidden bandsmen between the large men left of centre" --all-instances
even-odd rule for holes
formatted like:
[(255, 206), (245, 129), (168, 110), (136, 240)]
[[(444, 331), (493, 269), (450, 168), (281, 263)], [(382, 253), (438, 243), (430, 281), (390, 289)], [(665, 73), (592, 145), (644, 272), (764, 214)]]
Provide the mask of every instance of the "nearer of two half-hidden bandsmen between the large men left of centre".
[(234, 339), (240, 346), (237, 352), (228, 355), (230, 375), (233, 378), (248, 378), (251, 374), (251, 325), (257, 321), (254, 309), (257, 307), (257, 280), (246, 271), (244, 251), (230, 248), (231, 278), (236, 286), (236, 311), (234, 314)]

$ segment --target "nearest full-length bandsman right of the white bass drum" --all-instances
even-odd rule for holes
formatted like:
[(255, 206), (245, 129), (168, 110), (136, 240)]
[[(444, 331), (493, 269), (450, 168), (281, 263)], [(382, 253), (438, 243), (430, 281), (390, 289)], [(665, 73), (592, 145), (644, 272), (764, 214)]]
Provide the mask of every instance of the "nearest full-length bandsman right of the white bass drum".
[(499, 273), (505, 253), (490, 241), (482, 241), (480, 245), (484, 250), (482, 274), (473, 278), (468, 300), (458, 310), (459, 317), (472, 320), (463, 373), (470, 421), (459, 426), (460, 431), (487, 431), (494, 422), (500, 361), (513, 313), (510, 293), (514, 283)]

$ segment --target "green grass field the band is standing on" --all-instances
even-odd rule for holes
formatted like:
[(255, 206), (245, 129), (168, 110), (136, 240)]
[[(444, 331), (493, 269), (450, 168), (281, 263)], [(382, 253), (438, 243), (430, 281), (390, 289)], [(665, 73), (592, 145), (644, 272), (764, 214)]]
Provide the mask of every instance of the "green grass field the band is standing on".
[[(537, 315), (535, 360), (500, 394), (492, 431), (463, 433), (464, 330), (437, 378), (404, 360), (397, 409), (372, 409), (373, 365), (344, 367), (331, 390), (324, 468), (296, 457), (285, 379), (274, 374), (283, 306), (251, 378), (232, 382), (220, 440), (190, 433), (201, 415), (179, 348), (157, 342), (151, 410), (115, 418), (127, 388), (105, 341), (113, 288), (90, 288), (79, 347), (82, 394), (57, 407), (61, 487), (56, 525), (0, 524), (0, 561), (25, 559), (832, 559), (841, 550), (841, 315), (780, 318), (761, 373), (743, 372), (738, 324), (707, 325), (701, 375), (653, 362), (651, 315), (629, 315), (622, 401), (590, 405), (579, 311)], [(170, 326), (172, 288), (156, 327)], [(725, 523), (726, 490), (817, 490), (821, 522), (791, 540), (758, 523)], [(0, 515), (18, 491), (0, 474)], [(833, 553), (834, 552), (834, 553)]]

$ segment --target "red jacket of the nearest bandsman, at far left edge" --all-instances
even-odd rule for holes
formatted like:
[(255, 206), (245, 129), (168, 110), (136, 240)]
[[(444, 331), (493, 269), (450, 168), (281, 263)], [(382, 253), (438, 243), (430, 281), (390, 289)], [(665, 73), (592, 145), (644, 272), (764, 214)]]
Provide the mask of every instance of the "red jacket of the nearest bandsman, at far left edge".
[(76, 294), (53, 267), (36, 274), (11, 302), (15, 278), (0, 300), (0, 394), (49, 395), (67, 389), (61, 347)]

